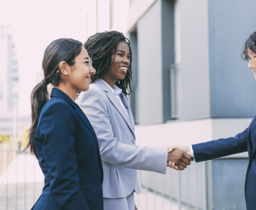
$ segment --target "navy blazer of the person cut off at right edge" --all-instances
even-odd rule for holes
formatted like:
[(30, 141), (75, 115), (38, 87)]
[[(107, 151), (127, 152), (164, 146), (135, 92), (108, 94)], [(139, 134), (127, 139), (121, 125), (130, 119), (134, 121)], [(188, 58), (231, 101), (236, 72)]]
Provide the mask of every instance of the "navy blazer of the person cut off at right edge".
[(249, 164), (245, 179), (247, 210), (256, 209), (256, 116), (249, 127), (235, 137), (192, 145), (196, 162), (248, 151)]

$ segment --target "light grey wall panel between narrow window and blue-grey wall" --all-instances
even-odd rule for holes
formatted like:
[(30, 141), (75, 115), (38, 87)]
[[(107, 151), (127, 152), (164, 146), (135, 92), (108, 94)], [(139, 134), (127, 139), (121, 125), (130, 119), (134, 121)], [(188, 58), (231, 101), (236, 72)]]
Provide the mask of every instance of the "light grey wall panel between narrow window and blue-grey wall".
[[(208, 1), (179, 1), (179, 119), (210, 117)], [(175, 49), (177, 50), (177, 49)]]

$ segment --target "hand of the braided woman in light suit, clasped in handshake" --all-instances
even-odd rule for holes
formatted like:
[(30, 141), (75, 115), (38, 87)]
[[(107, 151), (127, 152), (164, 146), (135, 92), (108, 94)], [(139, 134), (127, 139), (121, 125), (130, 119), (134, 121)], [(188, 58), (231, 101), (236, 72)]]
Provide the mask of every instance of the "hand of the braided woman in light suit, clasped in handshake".
[[(167, 160), (167, 166), (170, 166), (170, 162), (174, 163), (174, 168), (176, 170), (184, 170), (184, 168), (187, 167), (187, 165), (190, 165), (190, 161), (193, 161), (193, 157), (187, 154), (184, 151), (175, 149), (172, 152), (168, 151), (168, 160)], [(172, 168), (172, 167), (171, 167)]]

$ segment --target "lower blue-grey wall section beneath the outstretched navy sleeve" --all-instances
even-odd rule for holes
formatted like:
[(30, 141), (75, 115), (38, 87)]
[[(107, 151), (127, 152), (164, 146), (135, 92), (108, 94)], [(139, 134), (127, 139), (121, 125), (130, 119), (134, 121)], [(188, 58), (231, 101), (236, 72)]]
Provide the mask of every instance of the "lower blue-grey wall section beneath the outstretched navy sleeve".
[(248, 163), (249, 159), (213, 160), (215, 209), (246, 209), (245, 177)]

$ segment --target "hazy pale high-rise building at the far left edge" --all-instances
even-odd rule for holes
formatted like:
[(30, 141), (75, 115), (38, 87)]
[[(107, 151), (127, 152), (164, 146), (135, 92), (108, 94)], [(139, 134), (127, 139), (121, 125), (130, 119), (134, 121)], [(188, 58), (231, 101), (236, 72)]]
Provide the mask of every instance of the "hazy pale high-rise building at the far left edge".
[[(3, 10), (3, 8), (2, 8)], [(30, 116), (19, 115), (19, 66), (15, 43), (8, 19), (0, 16), (0, 142), (17, 142), (17, 135), (31, 122)]]

